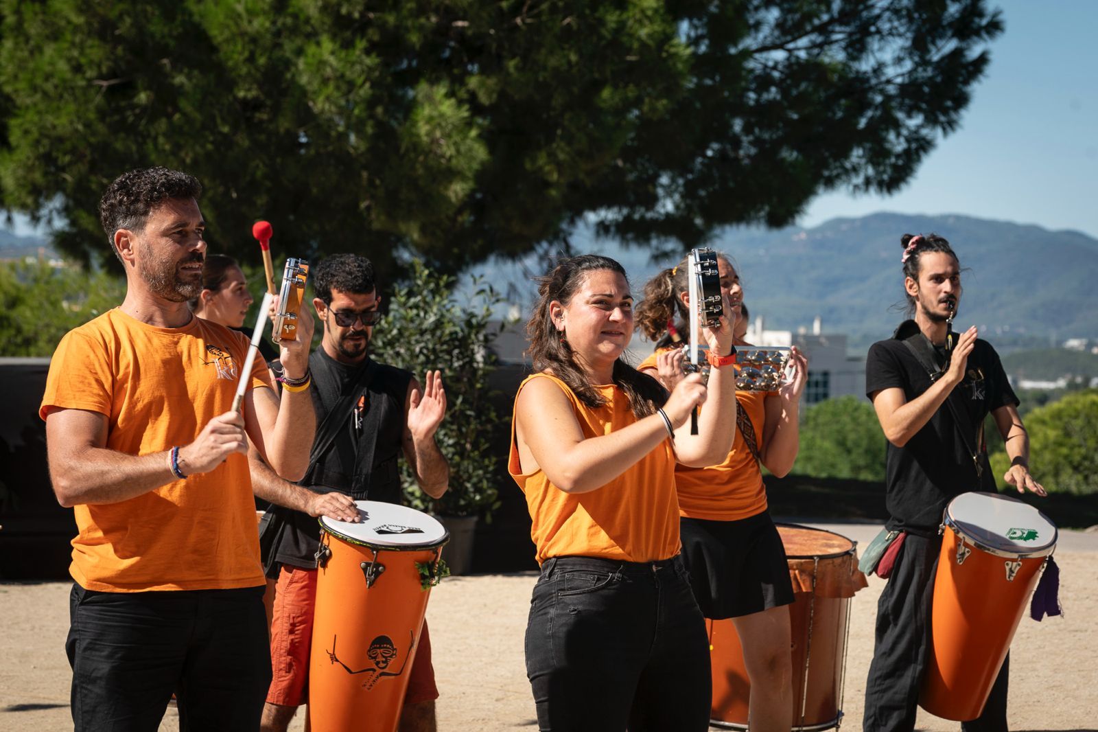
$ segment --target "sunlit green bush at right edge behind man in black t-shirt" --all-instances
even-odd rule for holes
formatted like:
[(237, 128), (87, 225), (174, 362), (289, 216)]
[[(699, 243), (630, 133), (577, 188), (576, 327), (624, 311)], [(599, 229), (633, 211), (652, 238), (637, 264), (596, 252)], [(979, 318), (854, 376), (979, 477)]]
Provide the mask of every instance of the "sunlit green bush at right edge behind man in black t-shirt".
[[(1075, 391), (1034, 409), (1026, 429), (1030, 470), (1045, 490), (1098, 493), (1098, 390)], [(999, 488), (1008, 488), (1002, 479), (1010, 466), (1006, 452), (995, 452), (990, 459)]]

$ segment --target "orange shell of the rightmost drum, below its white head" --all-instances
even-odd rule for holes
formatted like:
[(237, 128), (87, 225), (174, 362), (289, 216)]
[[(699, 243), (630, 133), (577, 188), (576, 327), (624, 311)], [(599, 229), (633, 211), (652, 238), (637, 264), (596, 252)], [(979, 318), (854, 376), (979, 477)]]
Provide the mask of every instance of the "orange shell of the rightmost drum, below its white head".
[(971, 542), (957, 564), (959, 537), (949, 525), (942, 537), (931, 610), (931, 647), (919, 706), (957, 721), (979, 717), (999, 674), (1010, 641), (1037, 587), (1045, 557), (1021, 559), (1012, 581), (1004, 556)]

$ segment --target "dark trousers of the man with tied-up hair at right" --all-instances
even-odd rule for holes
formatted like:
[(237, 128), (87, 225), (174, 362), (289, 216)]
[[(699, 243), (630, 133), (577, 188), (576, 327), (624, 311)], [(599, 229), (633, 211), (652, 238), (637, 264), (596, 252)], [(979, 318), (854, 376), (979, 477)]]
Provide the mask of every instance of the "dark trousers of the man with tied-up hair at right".
[[(876, 644), (865, 683), (865, 732), (911, 732), (930, 647), (930, 609), (940, 536), (908, 534), (877, 601)], [(1007, 732), (1010, 656), (995, 679), (984, 713), (965, 732)]]

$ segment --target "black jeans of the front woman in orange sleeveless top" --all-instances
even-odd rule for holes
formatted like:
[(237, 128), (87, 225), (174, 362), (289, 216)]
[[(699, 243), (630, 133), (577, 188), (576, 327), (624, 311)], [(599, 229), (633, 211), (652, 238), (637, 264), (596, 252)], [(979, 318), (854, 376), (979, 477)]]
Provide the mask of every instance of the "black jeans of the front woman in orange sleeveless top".
[(680, 558), (548, 559), (526, 673), (542, 732), (708, 730), (709, 645)]

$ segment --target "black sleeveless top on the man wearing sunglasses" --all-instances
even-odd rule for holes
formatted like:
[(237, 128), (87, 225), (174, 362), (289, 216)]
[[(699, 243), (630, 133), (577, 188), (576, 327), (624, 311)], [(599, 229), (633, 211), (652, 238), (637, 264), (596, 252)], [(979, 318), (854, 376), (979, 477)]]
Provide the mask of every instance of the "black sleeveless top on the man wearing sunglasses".
[[(403, 450), (404, 402), (412, 374), (367, 358), (359, 365), (341, 364), (317, 348), (309, 357), (313, 375), (313, 407), (317, 441), (322, 431), (335, 429), (330, 444), (312, 455), (305, 477), (298, 481), (316, 492), (338, 491), (355, 500), (401, 502), (397, 459)], [(352, 398), (343, 413), (332, 414), (346, 396)], [(345, 402), (348, 403), (348, 402)], [(328, 420), (335, 420), (330, 425)], [(261, 528), (260, 545), (268, 577), (278, 565), (315, 568), (321, 526), (311, 515), (272, 507)]]

